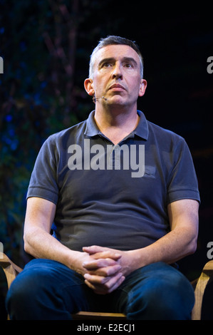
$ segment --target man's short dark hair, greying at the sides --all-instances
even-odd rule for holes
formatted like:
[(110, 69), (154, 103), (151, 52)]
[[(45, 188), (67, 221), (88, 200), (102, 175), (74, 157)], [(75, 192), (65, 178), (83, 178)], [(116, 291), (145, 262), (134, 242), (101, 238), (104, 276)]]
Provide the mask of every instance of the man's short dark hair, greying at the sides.
[(135, 41), (131, 41), (128, 38), (124, 38), (124, 37), (120, 37), (120, 36), (114, 36), (114, 35), (110, 35), (107, 36), (105, 38), (100, 38), (100, 41), (98, 42), (98, 46), (96, 46), (93, 49), (93, 53), (90, 56), (90, 71), (89, 71), (89, 77), (92, 78), (92, 73), (93, 73), (93, 56), (94, 54), (100, 50), (101, 48), (103, 48), (104, 46), (112, 46), (112, 45), (125, 45), (125, 46), (130, 46), (130, 48), (133, 48), (133, 50), (135, 50), (140, 58), (140, 63), (141, 63), (141, 78), (143, 76), (143, 58), (142, 58), (142, 54), (140, 53), (140, 49), (137, 46), (137, 43)]

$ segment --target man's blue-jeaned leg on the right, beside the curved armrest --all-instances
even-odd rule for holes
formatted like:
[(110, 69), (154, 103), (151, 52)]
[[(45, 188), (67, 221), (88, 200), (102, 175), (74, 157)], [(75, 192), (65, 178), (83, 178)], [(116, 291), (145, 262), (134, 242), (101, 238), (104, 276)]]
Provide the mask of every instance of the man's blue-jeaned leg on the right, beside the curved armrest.
[(188, 279), (163, 262), (137, 269), (114, 295), (115, 308), (128, 319), (190, 319), (194, 305)]

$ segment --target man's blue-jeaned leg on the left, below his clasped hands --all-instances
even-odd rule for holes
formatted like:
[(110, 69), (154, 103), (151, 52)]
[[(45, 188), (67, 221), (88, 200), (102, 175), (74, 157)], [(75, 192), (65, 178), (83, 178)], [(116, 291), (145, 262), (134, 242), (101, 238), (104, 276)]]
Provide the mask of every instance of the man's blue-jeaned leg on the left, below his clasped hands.
[(94, 296), (80, 274), (51, 259), (33, 259), (11, 284), (6, 304), (11, 319), (71, 319), (93, 309)]

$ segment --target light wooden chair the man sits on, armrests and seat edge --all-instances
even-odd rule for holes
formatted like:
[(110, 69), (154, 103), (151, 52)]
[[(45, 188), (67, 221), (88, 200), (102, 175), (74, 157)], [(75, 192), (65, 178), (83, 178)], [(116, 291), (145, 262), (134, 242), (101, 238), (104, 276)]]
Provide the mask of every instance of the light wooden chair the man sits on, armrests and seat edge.
[[(22, 271), (20, 267), (11, 262), (11, 259), (6, 256), (6, 254), (0, 252), (0, 267), (4, 270), (6, 275), (6, 281), (8, 289), (11, 282), (16, 278), (16, 276)], [(200, 320), (202, 313), (202, 301), (204, 296), (204, 291), (207, 287), (209, 279), (213, 279), (213, 260), (207, 262), (202, 269), (202, 273), (199, 279), (192, 283), (195, 296), (195, 304), (192, 310), (192, 320)], [(213, 299), (213, 297), (212, 297)], [(212, 311), (213, 314), (213, 311)], [(79, 311), (77, 314), (73, 314), (73, 319), (75, 320), (88, 320), (88, 319), (105, 319), (105, 320), (124, 320), (126, 319), (125, 314), (119, 313), (99, 313), (99, 312), (89, 312), (89, 311)]]

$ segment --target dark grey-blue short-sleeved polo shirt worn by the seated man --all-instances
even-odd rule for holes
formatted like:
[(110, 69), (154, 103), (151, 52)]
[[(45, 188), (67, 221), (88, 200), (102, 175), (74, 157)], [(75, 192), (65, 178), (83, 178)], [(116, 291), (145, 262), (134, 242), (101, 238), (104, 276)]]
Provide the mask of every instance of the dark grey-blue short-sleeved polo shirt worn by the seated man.
[(137, 113), (137, 128), (119, 145), (100, 133), (94, 111), (43, 144), (27, 197), (56, 204), (55, 235), (67, 247), (145, 247), (170, 231), (170, 202), (199, 201), (185, 140)]

